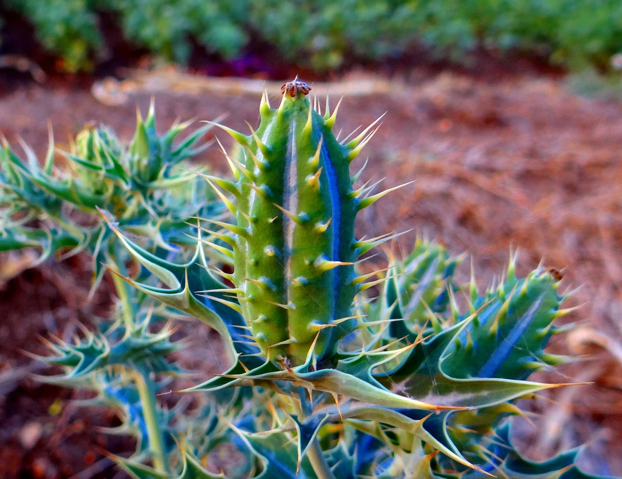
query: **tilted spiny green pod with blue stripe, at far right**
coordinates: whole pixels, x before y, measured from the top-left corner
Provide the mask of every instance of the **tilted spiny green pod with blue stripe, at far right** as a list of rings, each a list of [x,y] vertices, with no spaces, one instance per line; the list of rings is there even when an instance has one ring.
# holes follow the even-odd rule
[[[565,362],[565,356],[544,353],[552,323],[571,309],[560,309],[565,300],[557,292],[559,281],[549,271],[536,269],[525,279],[514,276],[514,259],[508,278],[496,291],[476,297],[473,320],[455,338],[443,361],[445,373],[456,378],[524,380],[533,371]]]

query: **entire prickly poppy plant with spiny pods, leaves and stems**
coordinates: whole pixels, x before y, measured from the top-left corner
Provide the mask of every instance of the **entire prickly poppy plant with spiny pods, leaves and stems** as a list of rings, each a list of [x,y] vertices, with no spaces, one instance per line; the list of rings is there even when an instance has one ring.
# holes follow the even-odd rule
[[[579,449],[531,462],[511,442],[516,400],[561,385],[528,380],[567,361],[545,352],[569,312],[560,277],[518,277],[513,257],[480,292],[455,279],[462,257],[423,239],[361,273],[361,255],[396,236],[355,237],[357,213],[395,189],[374,193],[350,175],[378,122],[338,141],[338,105],[321,114],[310,90],[285,83],[277,108],[264,93],[249,134],[216,124],[238,143],[225,152],[228,179],[176,169],[204,130],[174,144],[180,127],[157,136],[152,112],[129,146],[85,130],[60,178],[52,153],[40,170],[31,152],[24,164],[5,147],[3,249],[97,256],[105,243],[117,287],[98,330],[49,342],[40,359],[64,373],[44,380],[118,411],[117,432],[137,448],[116,461],[138,479],[595,478],[575,465]],[[96,197],[78,194],[87,184]],[[90,213],[97,241],[75,234],[63,202]],[[157,397],[185,373],[172,354],[186,347],[172,340],[179,316],[220,333],[229,361],[177,391],[202,393],[192,410]],[[225,446],[236,459],[216,468]]]

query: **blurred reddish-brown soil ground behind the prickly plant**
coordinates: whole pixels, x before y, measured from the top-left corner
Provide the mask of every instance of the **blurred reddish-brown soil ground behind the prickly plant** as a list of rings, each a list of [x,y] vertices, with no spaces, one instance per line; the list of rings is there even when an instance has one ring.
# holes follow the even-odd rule
[[[21,137],[40,154],[49,123],[58,146],[91,120],[129,140],[136,105],[146,112],[151,95],[162,129],[177,118],[221,114],[228,114],[223,123],[241,131],[244,121],[258,124],[261,80],[206,83],[173,70],[125,75],[133,79],[93,84],[63,77],[38,84],[27,75],[2,77],[0,131],[11,144]],[[353,169],[368,156],[363,178],[385,178],[385,187],[416,180],[364,210],[361,234],[414,228],[399,238],[399,247],[408,249],[418,234],[454,253],[466,251],[482,289],[515,248],[519,273],[542,260],[563,271],[567,291],[581,286],[569,305],[582,307],[562,320],[580,328],[556,338],[553,348],[592,358],[539,378],[593,384],[534,401],[534,425],[523,421],[518,439],[539,459],[587,442],[587,470],[622,475],[622,103],[580,98],[556,72],[517,65],[351,73],[336,80],[333,91],[346,93],[337,130],[348,134],[388,112]],[[267,86],[278,101],[272,83]],[[320,83],[311,86],[323,91]],[[198,160],[226,173],[215,147]],[[80,393],[35,381],[39,366],[21,352],[44,353],[38,335],[70,337],[78,320],[106,314],[105,285],[86,302],[88,268],[81,256],[48,261],[0,289],[0,478],[124,477],[100,448],[123,454],[131,441],[96,429],[116,424],[114,415],[85,412],[71,401]],[[469,274],[469,260],[461,274]],[[215,340],[203,326],[196,333]]]

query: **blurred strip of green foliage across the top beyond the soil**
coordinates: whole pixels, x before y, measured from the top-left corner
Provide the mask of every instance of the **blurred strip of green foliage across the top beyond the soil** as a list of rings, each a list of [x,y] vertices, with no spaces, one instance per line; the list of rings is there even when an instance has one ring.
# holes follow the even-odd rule
[[[571,69],[607,68],[622,45],[619,0],[0,0],[35,27],[66,70],[105,56],[98,14],[126,39],[185,63],[192,43],[234,58],[253,38],[317,71],[399,57],[420,44],[453,60],[482,45],[535,53]]]

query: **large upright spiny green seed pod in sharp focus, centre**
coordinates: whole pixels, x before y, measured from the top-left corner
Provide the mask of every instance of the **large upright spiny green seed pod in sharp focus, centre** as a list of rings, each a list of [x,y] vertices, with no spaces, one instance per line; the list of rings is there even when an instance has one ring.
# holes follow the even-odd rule
[[[337,108],[320,116],[309,90],[297,78],[285,83],[277,109],[264,93],[250,136],[221,127],[241,145],[244,164],[228,157],[235,183],[208,177],[236,198],[233,205],[220,193],[237,219],[221,226],[234,233],[233,282],[254,340],[270,360],[292,365],[305,362],[314,342],[315,359],[328,359],[350,332],[351,303],[365,286],[353,263],[376,244],[355,240],[356,213],[390,191],[353,191],[350,162],[373,124],[341,144],[331,131]]]

